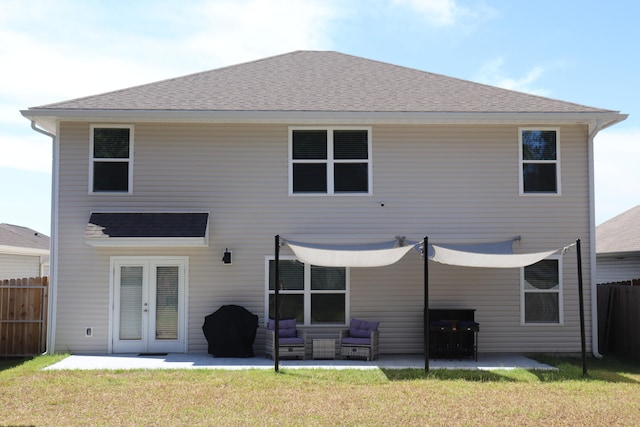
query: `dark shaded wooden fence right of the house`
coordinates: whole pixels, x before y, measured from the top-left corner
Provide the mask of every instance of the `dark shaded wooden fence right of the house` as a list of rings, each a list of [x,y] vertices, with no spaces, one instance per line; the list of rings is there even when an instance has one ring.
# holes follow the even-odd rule
[[[600,352],[640,358],[640,279],[598,285]]]

